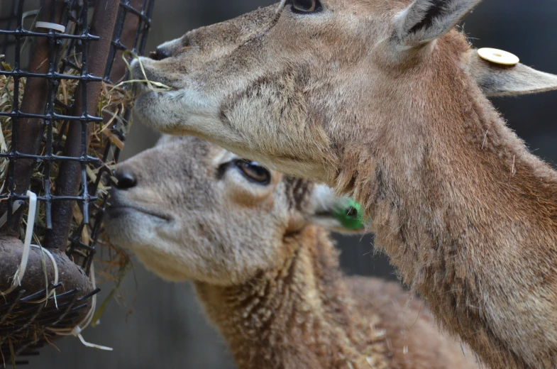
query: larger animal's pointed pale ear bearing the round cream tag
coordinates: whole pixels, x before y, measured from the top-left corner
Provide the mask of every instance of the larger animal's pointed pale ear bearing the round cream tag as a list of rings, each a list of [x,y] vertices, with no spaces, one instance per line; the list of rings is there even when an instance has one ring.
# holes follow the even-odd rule
[[[557,89],[557,75],[539,72],[524,64],[499,65],[483,60],[478,50],[468,53],[468,72],[487,97],[537,94]]]

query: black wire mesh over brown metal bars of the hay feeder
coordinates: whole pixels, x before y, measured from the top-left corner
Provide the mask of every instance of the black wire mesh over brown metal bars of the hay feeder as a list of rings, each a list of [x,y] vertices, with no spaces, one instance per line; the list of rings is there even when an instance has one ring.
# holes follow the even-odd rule
[[[114,75],[111,74],[111,71],[113,70],[117,58],[119,61],[121,51],[131,50],[132,53],[141,54],[145,48],[154,0],[136,0],[136,3],[138,2],[142,4],[133,4],[133,0],[122,0],[120,9],[118,10],[114,37],[104,72],[105,81],[111,84],[118,82],[112,80],[114,79]],[[42,165],[43,183],[41,187],[43,191],[38,194],[38,200],[45,206],[44,227],[46,230],[63,227],[57,224],[56,219],[53,219],[53,204],[56,202],[67,202],[69,200],[77,202],[79,208],[82,210],[83,221],[79,227],[72,230],[70,248],[67,249],[67,252],[75,261],[79,260],[79,265],[82,265],[84,270],[88,271],[92,255],[94,254],[96,237],[100,230],[101,218],[104,214],[104,206],[106,204],[105,198],[99,199],[97,196],[97,189],[101,182],[108,182],[107,177],[110,176],[111,168],[107,166],[106,163],[114,163],[118,160],[121,147],[114,144],[106,145],[105,148],[99,151],[99,155],[96,157],[89,155],[89,138],[87,136],[88,125],[91,123],[101,123],[103,117],[97,116],[97,111],[87,111],[87,104],[83,104],[82,109],[80,109],[77,114],[72,113],[75,106],[68,105],[65,101],[60,101],[57,92],[60,83],[70,79],[78,80],[82,82],[79,88],[82,89],[83,101],[87,101],[87,84],[101,81],[100,77],[89,75],[87,68],[87,50],[89,43],[99,39],[96,35],[89,33],[88,13],[89,7],[94,5],[94,1],[82,2],[73,0],[64,2],[67,8],[63,11],[61,24],[67,24],[68,26],[66,29],[72,29],[72,33],[59,33],[53,30],[48,31],[48,33],[28,31],[23,27],[22,20],[25,3],[26,1],[24,0],[13,1],[11,16],[0,19],[0,26],[7,27],[0,28],[0,50],[3,50],[2,53],[7,53],[9,48],[13,49],[13,70],[9,71],[6,70],[5,67],[0,67],[0,75],[13,79],[14,84],[13,110],[9,112],[0,112],[0,117],[11,118],[13,125],[11,150],[9,153],[0,153],[0,160],[9,160],[8,183],[7,186],[5,186],[4,192],[0,194],[0,201],[5,202],[7,199],[9,202],[8,207],[13,206],[13,203],[18,200],[28,201],[28,197],[24,194],[25,191],[16,188],[16,183],[14,181],[17,174],[15,172],[15,164],[18,160],[34,160],[35,163],[33,167]],[[52,1],[52,4],[55,4],[55,1]],[[55,13],[55,11],[52,11],[52,13]],[[60,22],[53,19],[53,23]],[[123,31],[129,32],[130,23],[135,26],[133,28],[133,38],[131,40],[123,40],[121,37],[122,33]],[[126,25],[128,26],[128,30],[126,30]],[[23,67],[22,49],[26,42],[26,38],[29,37],[48,39],[50,53],[48,55],[48,61],[45,61],[48,62],[49,65],[48,72],[38,74]],[[82,57],[78,56],[77,59],[79,60],[76,62],[76,55],[79,53],[82,54]],[[7,57],[11,56],[9,54],[4,55]],[[45,89],[46,106],[42,114],[24,112],[20,104],[18,104],[18,94],[21,93],[19,91],[21,79],[28,79],[29,77],[40,77],[48,80],[48,88]],[[118,79],[123,79],[122,77]],[[62,113],[60,113],[60,111],[62,111]],[[129,121],[130,114],[130,111],[123,113],[121,119],[118,119],[114,123],[114,126],[110,128],[114,136],[122,142],[128,131],[127,122]],[[42,121],[41,132],[38,138],[46,141],[46,147],[48,148],[46,152],[24,153],[20,150],[16,150],[16,148],[18,148],[18,137],[15,133],[18,124],[20,124],[23,119],[38,119]],[[60,154],[63,153],[64,149],[64,144],[60,142],[61,135],[57,140],[53,139],[53,122],[61,120],[64,121],[62,126],[64,129],[76,123],[82,126],[81,153],[76,157]],[[35,144],[35,146],[38,145]],[[53,180],[52,164],[57,163],[60,167],[63,162],[77,162],[81,165],[81,185],[79,194],[57,194],[53,192],[53,183],[51,183]],[[87,167],[89,167],[89,170],[92,168],[99,170],[99,172],[96,173],[96,180],[92,181],[91,176],[88,176]],[[26,182],[28,184],[34,180],[36,181],[37,178],[30,175]],[[57,181],[60,182],[60,178],[57,178]],[[25,189],[27,187],[28,186],[24,186]],[[16,221],[14,221],[13,218],[16,218]],[[13,227],[13,231],[17,231],[18,227],[21,226],[20,221],[21,214],[16,213],[12,215],[11,211],[8,211],[8,224]],[[82,240],[82,229],[86,225],[90,225],[92,228],[91,237],[89,240]],[[40,227],[40,225],[38,226]],[[43,246],[46,248],[51,247],[48,243],[48,238],[45,241]]]

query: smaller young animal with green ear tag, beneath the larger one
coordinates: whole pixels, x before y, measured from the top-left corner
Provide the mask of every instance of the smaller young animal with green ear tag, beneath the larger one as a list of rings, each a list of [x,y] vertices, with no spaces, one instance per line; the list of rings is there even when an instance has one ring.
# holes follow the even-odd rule
[[[476,368],[400,287],[350,279],[319,225],[347,209],[327,187],[197,138],[118,166],[106,227],[167,280],[192,280],[241,369]]]

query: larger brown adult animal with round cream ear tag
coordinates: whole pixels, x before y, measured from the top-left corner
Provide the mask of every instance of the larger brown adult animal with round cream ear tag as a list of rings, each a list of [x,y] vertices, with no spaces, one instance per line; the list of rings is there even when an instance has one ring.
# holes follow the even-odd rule
[[[557,367],[557,173],[486,95],[557,77],[480,60],[480,0],[289,0],[163,44],[136,111],[353,194],[377,245],[492,368]],[[140,63],[133,66],[140,73]]]

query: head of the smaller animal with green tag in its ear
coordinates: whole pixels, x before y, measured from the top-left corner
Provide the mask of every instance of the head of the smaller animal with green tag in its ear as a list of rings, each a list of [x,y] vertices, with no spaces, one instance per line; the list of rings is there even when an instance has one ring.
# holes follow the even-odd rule
[[[118,165],[116,177],[105,222],[111,241],[167,280],[234,285],[282,265],[292,252],[283,239],[309,224],[363,231],[341,221],[349,199],[329,187],[197,138],[162,138]]]

